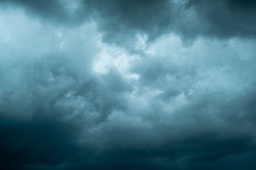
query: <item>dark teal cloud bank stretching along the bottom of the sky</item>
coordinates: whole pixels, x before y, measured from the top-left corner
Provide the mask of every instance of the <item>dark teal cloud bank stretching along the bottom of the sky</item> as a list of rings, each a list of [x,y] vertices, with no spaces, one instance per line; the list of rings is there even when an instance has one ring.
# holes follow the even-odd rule
[[[63,119],[73,111],[55,104],[48,109],[40,108],[33,120],[1,117],[1,167],[240,169],[241,165],[234,164],[240,162],[246,164],[247,169],[253,169],[255,118],[251,116],[255,113],[252,105],[255,96],[250,97],[253,91],[255,87],[231,101],[223,101],[222,95],[198,96],[193,98],[191,106],[174,117],[172,124],[161,120],[151,124],[151,128],[143,128],[143,123],[136,123],[136,119],[129,125],[129,117],[122,118],[122,113],[117,111],[112,115],[117,118],[100,124],[94,132],[84,133],[81,130],[90,131],[88,124],[84,124],[84,120],[80,122],[80,118]],[[235,105],[239,101],[244,102]],[[216,119],[224,124],[213,122],[208,115],[208,111],[216,107],[219,107]],[[238,114],[242,111],[247,113],[241,117]]]

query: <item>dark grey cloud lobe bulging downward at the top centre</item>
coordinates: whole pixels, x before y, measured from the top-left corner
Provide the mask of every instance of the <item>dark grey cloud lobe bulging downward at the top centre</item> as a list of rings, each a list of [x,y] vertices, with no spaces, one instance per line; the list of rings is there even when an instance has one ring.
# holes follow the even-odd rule
[[[136,34],[149,39],[169,32],[175,22],[171,1],[87,1],[107,42],[122,44]],[[132,38],[132,37],[130,37]]]

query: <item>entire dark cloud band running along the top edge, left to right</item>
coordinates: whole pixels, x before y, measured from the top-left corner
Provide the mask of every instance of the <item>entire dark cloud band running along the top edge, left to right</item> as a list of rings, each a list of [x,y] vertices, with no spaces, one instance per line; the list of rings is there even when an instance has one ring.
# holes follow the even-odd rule
[[[184,43],[210,36],[255,38],[254,1],[5,1],[65,26],[96,21],[105,42],[131,46],[136,35],[155,40],[166,33],[178,33]],[[73,11],[72,11],[73,10]]]

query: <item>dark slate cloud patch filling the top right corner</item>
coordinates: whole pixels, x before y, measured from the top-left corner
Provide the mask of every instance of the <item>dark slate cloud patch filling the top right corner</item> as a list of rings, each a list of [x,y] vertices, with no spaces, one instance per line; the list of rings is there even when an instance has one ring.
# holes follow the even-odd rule
[[[201,20],[204,36],[255,38],[253,1],[189,1]]]

